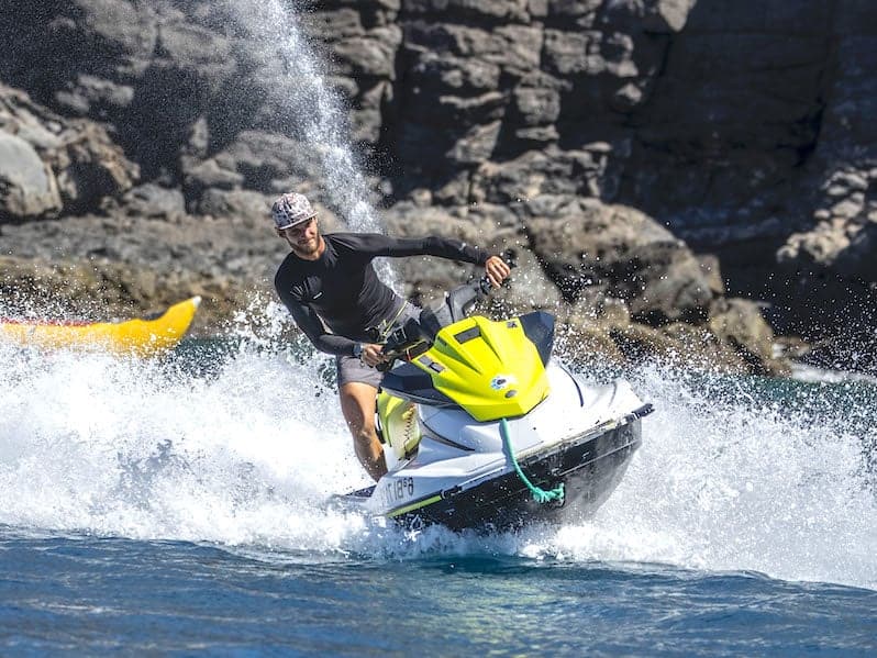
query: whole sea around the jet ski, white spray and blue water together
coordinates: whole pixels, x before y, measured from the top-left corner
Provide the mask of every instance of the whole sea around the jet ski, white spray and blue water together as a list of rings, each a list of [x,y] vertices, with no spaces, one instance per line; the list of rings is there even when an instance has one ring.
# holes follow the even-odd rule
[[[593,518],[404,531],[326,506],[366,483],[331,364],[264,331],[0,347],[0,654],[877,649],[874,384],[645,366],[656,412]]]

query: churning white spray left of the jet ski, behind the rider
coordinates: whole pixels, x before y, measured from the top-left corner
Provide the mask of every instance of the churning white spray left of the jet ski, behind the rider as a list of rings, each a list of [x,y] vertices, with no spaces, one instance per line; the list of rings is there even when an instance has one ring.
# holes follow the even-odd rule
[[[334,531],[313,503],[357,481],[335,395],[284,355],[244,348],[210,378],[71,353],[0,363],[0,524],[292,547],[298,527],[319,550]]]

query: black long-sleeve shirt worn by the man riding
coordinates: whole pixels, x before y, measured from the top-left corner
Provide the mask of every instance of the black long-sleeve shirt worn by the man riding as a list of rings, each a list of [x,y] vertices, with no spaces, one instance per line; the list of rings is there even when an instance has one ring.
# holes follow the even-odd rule
[[[342,356],[352,356],[356,343],[371,342],[366,330],[392,320],[401,303],[378,279],[374,258],[438,256],[477,265],[489,258],[484,249],[438,236],[330,233],[323,239],[325,250],[317,260],[290,253],[277,269],[274,286],[314,346]]]

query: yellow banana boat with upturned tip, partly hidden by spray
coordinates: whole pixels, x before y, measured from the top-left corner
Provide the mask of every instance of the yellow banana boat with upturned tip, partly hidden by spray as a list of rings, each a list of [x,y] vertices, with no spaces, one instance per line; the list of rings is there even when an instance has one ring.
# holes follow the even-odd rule
[[[154,317],[120,322],[52,322],[0,319],[0,339],[47,349],[103,349],[119,355],[154,356],[182,339],[201,303],[192,297]]]

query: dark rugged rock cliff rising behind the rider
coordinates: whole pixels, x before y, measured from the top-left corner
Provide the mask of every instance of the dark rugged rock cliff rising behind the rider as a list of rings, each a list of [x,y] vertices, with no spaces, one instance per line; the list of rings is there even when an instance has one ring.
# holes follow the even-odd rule
[[[4,252],[174,271],[233,303],[282,254],[273,196],[312,196],[329,225],[352,212],[314,136],[325,88],[390,232],[510,249],[526,285],[506,302],[559,304],[606,353],[693,342],[770,370],[765,305],[811,341],[873,337],[877,5],[285,4],[18,8],[0,24]],[[288,47],[299,27],[315,64]],[[429,297],[460,272],[402,275]]]

